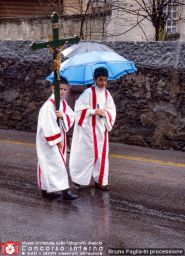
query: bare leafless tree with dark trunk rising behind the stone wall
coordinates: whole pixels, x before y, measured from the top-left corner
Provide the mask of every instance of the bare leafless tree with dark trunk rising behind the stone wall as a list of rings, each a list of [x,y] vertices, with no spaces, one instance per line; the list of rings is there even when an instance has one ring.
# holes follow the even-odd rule
[[[183,0],[182,0],[183,1]],[[142,32],[146,33],[142,27],[143,21],[147,20],[151,22],[155,30],[155,41],[164,41],[167,37],[166,24],[167,21],[177,22],[184,19],[182,17],[182,10],[185,7],[185,3],[181,0],[113,0],[112,10],[122,10],[122,18],[124,15],[129,14],[135,16],[135,23],[130,28],[122,33],[112,34],[112,36],[125,34],[131,31],[133,28],[139,26]],[[172,17],[172,8],[178,8],[178,17]]]

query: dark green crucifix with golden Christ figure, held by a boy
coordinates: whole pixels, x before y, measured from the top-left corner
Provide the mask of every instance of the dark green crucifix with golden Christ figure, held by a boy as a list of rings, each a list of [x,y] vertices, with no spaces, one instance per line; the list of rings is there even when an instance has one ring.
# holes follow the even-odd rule
[[[53,53],[53,71],[54,71],[54,94],[55,94],[55,107],[59,110],[60,107],[60,64],[61,64],[61,49],[66,45],[77,44],[80,41],[78,36],[62,38],[59,36],[59,15],[53,12],[51,15],[53,35],[51,40],[47,42],[35,42],[30,45],[31,50],[42,48],[49,48]]]

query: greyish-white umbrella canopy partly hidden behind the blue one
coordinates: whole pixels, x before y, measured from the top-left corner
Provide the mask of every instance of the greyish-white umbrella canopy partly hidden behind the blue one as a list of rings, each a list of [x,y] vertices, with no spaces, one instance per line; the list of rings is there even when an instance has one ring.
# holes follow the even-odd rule
[[[78,44],[74,44],[65,50],[62,51],[62,54],[65,58],[74,57],[77,54],[82,54],[86,52],[92,51],[106,51],[106,52],[114,52],[110,47],[99,44],[96,42],[80,42]]]

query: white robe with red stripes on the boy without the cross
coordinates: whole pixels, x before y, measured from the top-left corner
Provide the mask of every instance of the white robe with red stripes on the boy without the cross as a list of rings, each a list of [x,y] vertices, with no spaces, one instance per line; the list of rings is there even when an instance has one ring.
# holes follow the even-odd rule
[[[95,109],[104,109],[106,116],[94,115]],[[95,182],[105,186],[109,175],[109,139],[116,118],[116,107],[107,89],[92,86],[75,103],[75,127],[70,154],[72,181],[88,185]]]

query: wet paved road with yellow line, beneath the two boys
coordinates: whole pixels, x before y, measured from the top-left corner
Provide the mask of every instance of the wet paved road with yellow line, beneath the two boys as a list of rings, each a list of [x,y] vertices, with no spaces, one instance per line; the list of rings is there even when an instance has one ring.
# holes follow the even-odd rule
[[[0,144],[0,240],[20,241],[20,255],[64,255],[62,248],[56,252],[57,242],[65,255],[82,255],[83,246],[91,253],[84,255],[109,255],[108,248],[185,249],[183,152],[113,143],[111,191],[91,184],[68,203],[43,199],[37,189],[34,133],[0,130]],[[51,244],[45,254],[33,249],[38,242],[55,243],[55,251]]]

